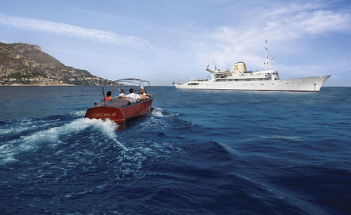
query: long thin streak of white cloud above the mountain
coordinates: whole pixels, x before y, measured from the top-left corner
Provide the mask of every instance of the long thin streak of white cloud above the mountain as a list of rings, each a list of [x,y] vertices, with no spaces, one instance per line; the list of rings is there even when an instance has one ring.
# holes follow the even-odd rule
[[[60,22],[10,17],[0,14],[0,25],[15,27],[32,32],[46,32],[49,34],[70,36],[77,39],[88,39],[91,41],[109,43],[117,46],[154,50],[154,45],[152,45],[152,43],[138,36],[125,36],[112,32],[100,31],[97,29],[86,29]]]

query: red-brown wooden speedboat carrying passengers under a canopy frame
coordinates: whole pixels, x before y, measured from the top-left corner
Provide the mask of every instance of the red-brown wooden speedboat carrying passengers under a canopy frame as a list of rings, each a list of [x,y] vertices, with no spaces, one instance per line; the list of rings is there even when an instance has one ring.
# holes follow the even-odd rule
[[[135,78],[127,78],[117,80],[114,83],[133,83],[136,85],[128,88],[135,88],[135,90],[143,88],[143,84],[147,83],[149,85],[148,92],[150,92],[150,83],[148,81]],[[102,120],[106,120],[107,118],[109,118],[115,123],[124,123],[126,120],[143,116],[147,113],[150,113],[151,111],[151,105],[152,101],[154,100],[154,95],[149,94],[149,98],[143,100],[113,97],[109,101],[105,101],[105,92],[103,91],[104,90],[102,87],[104,99],[102,100],[102,102],[95,103],[94,106],[89,107],[86,111],[85,118],[97,118]]]

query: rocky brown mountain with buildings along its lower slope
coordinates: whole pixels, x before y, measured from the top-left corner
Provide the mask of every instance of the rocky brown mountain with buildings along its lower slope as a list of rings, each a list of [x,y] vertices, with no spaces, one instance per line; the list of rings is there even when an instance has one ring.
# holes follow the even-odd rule
[[[27,43],[0,43],[0,85],[110,85],[86,70],[67,67]]]

